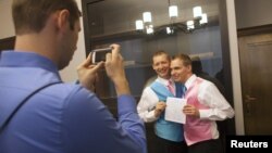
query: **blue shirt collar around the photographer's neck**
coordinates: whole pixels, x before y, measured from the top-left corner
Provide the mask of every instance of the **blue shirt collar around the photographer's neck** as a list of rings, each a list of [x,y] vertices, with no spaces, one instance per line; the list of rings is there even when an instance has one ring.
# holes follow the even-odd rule
[[[0,66],[40,67],[59,75],[59,71],[52,61],[32,52],[2,51],[0,55]]]

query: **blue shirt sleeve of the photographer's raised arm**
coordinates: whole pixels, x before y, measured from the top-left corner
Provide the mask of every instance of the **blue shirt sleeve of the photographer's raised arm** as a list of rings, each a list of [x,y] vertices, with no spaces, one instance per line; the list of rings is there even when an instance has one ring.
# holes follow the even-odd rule
[[[67,153],[146,153],[144,123],[132,95],[118,98],[119,122],[101,101],[86,89],[67,98],[62,136]]]

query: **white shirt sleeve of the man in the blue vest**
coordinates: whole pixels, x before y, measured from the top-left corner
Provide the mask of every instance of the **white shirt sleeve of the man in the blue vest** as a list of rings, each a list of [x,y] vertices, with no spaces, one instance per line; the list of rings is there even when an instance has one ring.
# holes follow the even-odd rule
[[[151,123],[158,119],[158,117],[154,116],[154,106],[158,102],[159,99],[152,89],[150,87],[145,88],[137,105],[139,117],[145,123]]]

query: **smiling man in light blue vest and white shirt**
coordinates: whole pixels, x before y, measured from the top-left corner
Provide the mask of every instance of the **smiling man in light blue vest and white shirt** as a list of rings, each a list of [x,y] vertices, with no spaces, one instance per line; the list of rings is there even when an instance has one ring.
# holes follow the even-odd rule
[[[140,118],[146,123],[156,122],[154,132],[162,146],[161,153],[185,153],[183,125],[164,119],[168,97],[181,97],[183,85],[175,84],[170,75],[171,59],[164,51],[157,51],[152,56],[152,67],[158,77],[143,91],[137,106]]]

